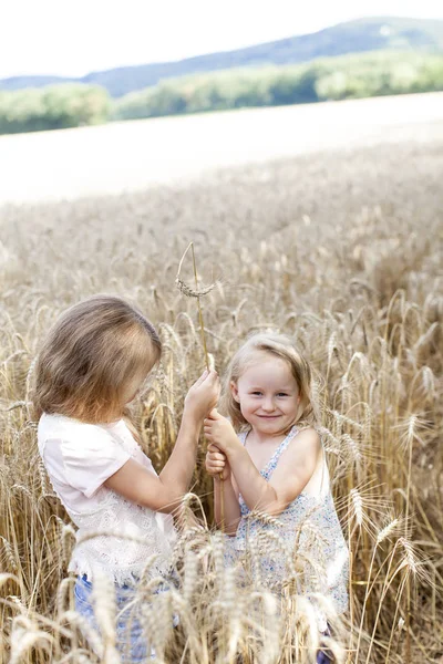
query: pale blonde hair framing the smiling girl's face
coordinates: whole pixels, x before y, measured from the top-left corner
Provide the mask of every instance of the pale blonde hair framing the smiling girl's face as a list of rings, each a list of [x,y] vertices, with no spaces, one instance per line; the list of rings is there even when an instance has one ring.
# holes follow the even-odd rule
[[[257,361],[257,352],[265,352],[288,363],[296,380],[300,404],[291,426],[296,423],[312,426],[318,422],[318,408],[312,398],[312,370],[303,355],[286,334],[253,334],[236,352],[224,380],[222,409],[230,417],[234,428],[248,425],[241,414],[240,404],[234,398],[231,382],[237,383],[244,372]]]

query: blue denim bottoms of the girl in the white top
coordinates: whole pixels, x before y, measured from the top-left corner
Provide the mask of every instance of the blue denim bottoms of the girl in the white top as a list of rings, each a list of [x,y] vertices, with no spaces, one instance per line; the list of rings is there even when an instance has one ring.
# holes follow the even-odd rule
[[[94,614],[91,593],[92,583],[87,581],[87,577],[78,577],[74,587],[75,611],[87,621],[89,626],[99,635],[100,630]],[[122,664],[135,664],[155,660],[155,650],[147,643],[142,625],[134,615],[133,608],[130,606],[133,600],[133,588],[128,585],[115,585],[117,611],[116,647]],[[85,636],[87,637],[86,634]]]

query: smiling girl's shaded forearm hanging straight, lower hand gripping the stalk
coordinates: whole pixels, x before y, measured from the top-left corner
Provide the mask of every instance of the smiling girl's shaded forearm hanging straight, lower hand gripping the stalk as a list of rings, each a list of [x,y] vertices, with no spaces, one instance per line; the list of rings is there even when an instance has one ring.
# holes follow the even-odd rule
[[[235,535],[240,520],[238,495],[231,481],[229,463],[218,447],[209,445],[206,454],[206,470],[214,478],[214,516],[217,526],[224,526],[226,535]],[[222,475],[222,478],[220,478]],[[223,508],[222,508],[223,501]],[[223,523],[224,516],[224,523]]]

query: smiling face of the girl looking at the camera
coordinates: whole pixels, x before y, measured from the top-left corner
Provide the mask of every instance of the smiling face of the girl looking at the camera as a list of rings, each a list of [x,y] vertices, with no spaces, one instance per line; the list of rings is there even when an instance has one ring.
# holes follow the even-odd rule
[[[293,423],[300,395],[285,360],[257,352],[257,362],[248,366],[230,388],[243,416],[256,430],[276,435]]]

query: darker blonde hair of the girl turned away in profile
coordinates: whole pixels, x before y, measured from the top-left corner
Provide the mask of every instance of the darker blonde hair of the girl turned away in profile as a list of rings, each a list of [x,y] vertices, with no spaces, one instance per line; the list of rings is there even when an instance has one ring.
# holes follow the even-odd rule
[[[93,295],[68,309],[41,346],[34,374],[35,418],[59,413],[97,424],[123,415],[124,387],[159,360],[155,328],[132,304]]]

